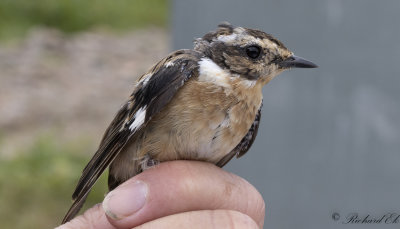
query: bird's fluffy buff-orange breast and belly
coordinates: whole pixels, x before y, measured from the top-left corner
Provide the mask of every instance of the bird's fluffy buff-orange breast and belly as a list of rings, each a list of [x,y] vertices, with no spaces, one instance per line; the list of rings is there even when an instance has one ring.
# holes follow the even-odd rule
[[[261,90],[226,90],[199,78],[186,82],[144,130],[139,155],[217,163],[248,132],[262,100]]]

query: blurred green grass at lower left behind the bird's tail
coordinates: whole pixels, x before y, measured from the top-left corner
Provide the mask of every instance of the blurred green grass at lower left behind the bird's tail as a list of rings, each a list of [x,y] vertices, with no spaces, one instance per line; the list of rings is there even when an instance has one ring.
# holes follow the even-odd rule
[[[60,223],[82,165],[88,161],[87,142],[59,142],[38,136],[12,159],[0,161],[0,221],[2,228],[50,228]],[[103,175],[86,206],[106,193]]]

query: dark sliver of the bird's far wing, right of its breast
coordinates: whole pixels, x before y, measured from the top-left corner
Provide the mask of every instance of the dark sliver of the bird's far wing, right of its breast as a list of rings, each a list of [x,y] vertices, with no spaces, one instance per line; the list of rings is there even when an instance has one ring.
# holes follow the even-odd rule
[[[235,155],[237,158],[243,156],[247,151],[250,149],[251,145],[253,144],[254,140],[256,139],[258,126],[260,125],[261,119],[261,108],[258,109],[256,118],[254,119],[253,124],[251,125],[247,134],[242,138],[239,144],[227,155],[225,155],[218,163],[216,164],[219,167],[223,167],[228,163]]]

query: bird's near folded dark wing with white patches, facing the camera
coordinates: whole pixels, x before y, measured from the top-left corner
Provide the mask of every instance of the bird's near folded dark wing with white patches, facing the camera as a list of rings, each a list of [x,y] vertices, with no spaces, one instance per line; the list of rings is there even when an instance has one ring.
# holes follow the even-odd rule
[[[165,107],[189,78],[198,74],[200,58],[201,54],[196,51],[178,50],[139,79],[129,101],[118,111],[98,150],[84,168],[72,195],[74,203],[63,223],[79,212],[90,189],[129,139]]]

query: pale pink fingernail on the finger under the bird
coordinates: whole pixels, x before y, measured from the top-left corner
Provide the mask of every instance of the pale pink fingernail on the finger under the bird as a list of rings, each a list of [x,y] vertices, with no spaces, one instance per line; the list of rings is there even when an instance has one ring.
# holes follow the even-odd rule
[[[142,181],[122,185],[107,194],[103,201],[103,209],[114,220],[126,218],[144,206],[147,191],[148,187]]]

